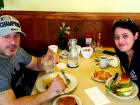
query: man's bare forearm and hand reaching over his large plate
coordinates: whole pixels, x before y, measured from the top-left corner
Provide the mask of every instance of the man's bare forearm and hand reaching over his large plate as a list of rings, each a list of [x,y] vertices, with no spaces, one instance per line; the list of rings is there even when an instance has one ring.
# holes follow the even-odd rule
[[[0,105],[41,105],[45,101],[59,95],[65,88],[60,77],[54,78],[51,86],[44,92],[32,96],[16,98],[12,89],[0,92]]]

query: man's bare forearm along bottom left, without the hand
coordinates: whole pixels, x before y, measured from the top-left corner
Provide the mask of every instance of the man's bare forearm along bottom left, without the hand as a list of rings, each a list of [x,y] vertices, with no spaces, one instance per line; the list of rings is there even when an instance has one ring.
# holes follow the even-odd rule
[[[12,89],[0,93],[0,105],[40,105],[51,99],[56,93],[45,91],[38,95],[25,96],[16,99]]]

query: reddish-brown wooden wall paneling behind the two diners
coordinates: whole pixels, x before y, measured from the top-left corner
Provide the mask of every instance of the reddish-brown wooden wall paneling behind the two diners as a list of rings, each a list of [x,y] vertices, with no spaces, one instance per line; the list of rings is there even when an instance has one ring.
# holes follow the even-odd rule
[[[12,15],[18,18],[22,30],[27,34],[21,38],[21,45],[29,50],[41,52],[45,52],[49,44],[58,43],[59,36],[56,31],[62,22],[71,27],[68,39],[80,38],[81,34],[101,32],[101,43],[105,47],[113,46],[111,32],[113,20],[130,17],[140,27],[140,13],[0,11],[0,15]]]

